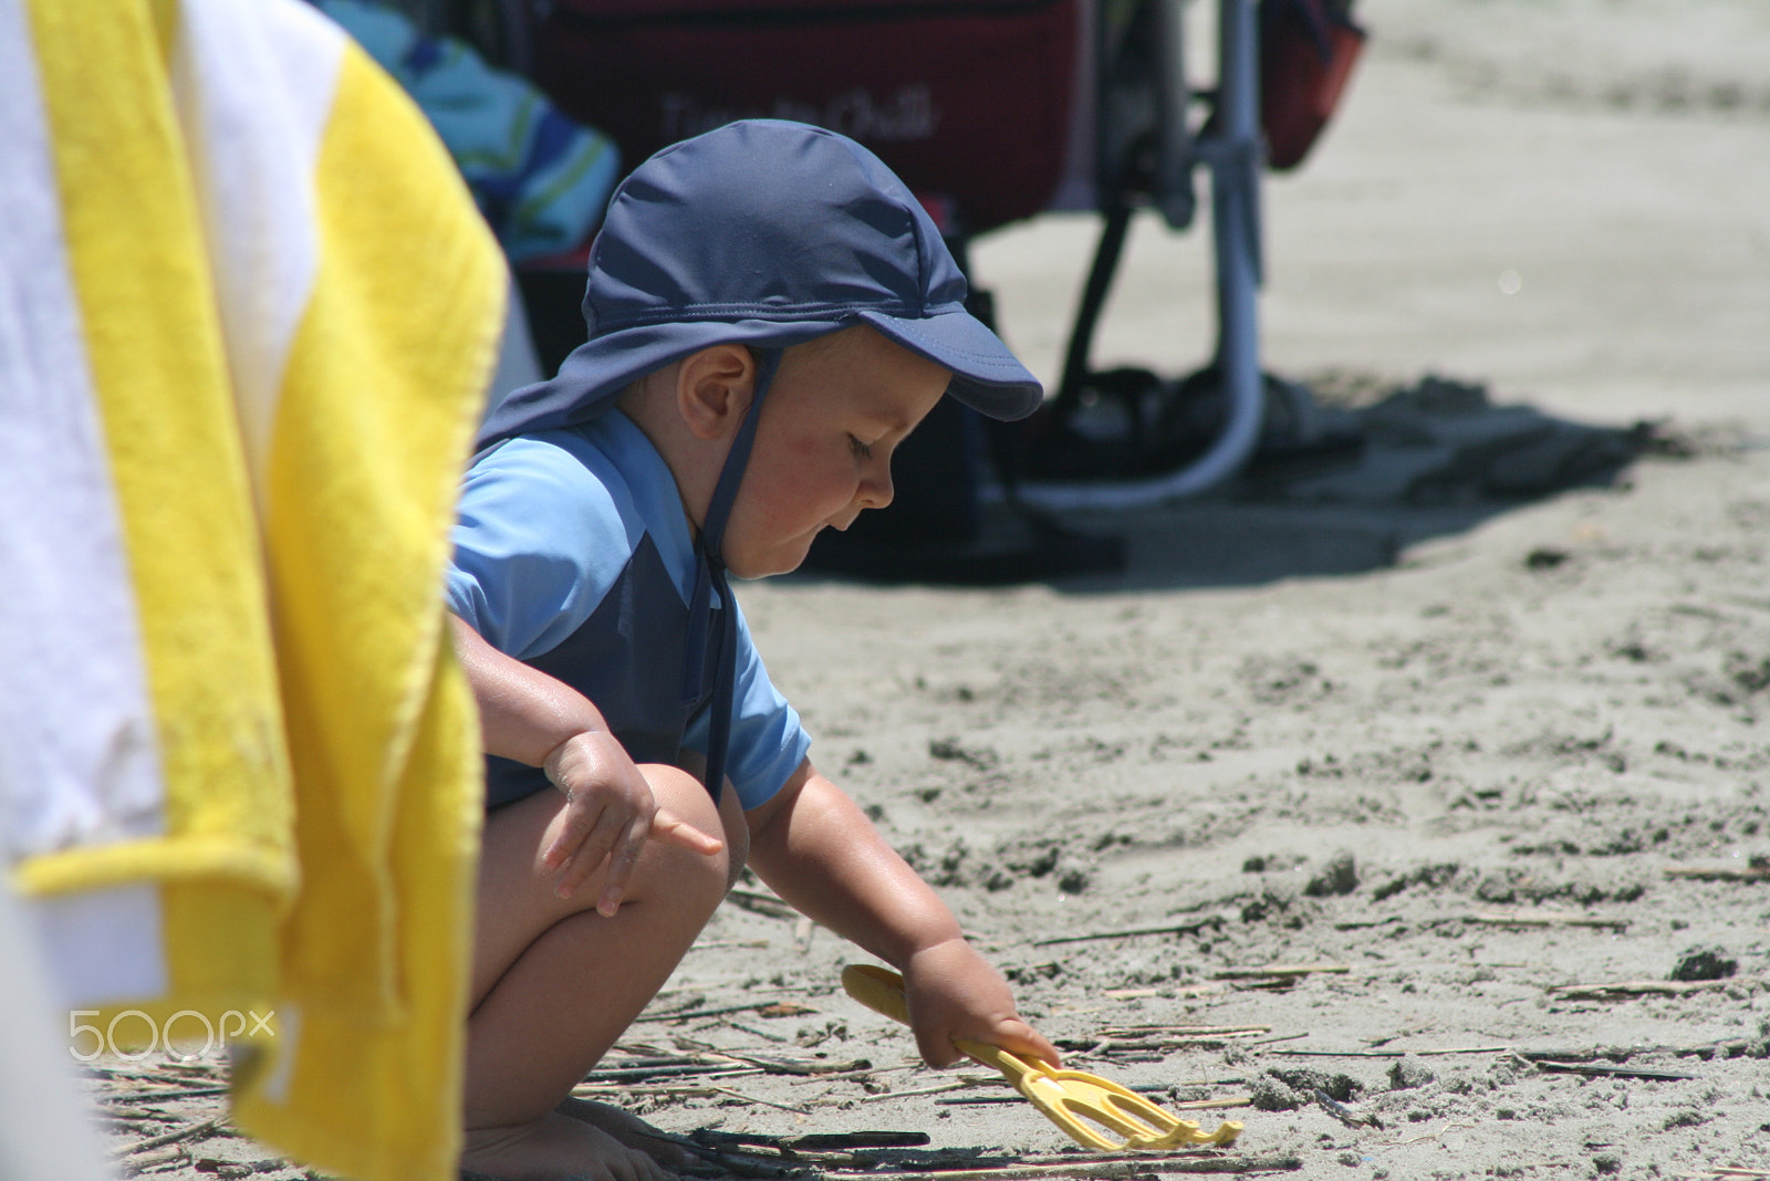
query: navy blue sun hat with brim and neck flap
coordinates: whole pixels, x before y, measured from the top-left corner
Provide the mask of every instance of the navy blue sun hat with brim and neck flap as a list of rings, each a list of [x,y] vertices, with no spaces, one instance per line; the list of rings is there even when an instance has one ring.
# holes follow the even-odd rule
[[[614,191],[589,253],[589,339],[552,380],[512,391],[480,446],[593,419],[632,380],[710,345],[786,348],[857,324],[950,370],[965,405],[1032,414],[1039,380],[965,295],[940,230],[878,156],[807,124],[727,124]]]

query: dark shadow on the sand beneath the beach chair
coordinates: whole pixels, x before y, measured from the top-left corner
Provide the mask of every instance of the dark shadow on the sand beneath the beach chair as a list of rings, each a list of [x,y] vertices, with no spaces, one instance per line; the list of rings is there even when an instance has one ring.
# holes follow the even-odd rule
[[[825,532],[795,578],[1087,594],[1356,575],[1558,491],[1623,488],[1643,456],[1692,453],[1662,424],[1572,423],[1443,377],[1384,387],[1328,375],[1294,389],[1304,401],[1281,423],[1269,414],[1253,460],[1205,497],[1112,513],[997,499],[975,536],[947,543]],[[915,477],[899,472],[899,486]]]

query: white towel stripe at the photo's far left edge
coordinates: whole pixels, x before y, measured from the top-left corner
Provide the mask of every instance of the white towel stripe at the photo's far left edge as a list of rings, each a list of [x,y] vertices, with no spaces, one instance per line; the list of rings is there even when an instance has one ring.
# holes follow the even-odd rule
[[[28,14],[0,0],[0,865],[161,831],[110,456]]]

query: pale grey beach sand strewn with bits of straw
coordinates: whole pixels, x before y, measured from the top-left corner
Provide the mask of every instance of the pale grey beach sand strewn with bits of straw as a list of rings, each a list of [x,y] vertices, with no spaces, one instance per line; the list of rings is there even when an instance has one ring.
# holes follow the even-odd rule
[[[1074,522],[1129,537],[1119,578],[795,578],[743,587],[745,610],[820,766],[1073,1064],[1163,1103],[1253,1098],[1197,1112],[1246,1124],[1227,1158],[1306,1177],[1770,1176],[1770,880],[1749,880],[1770,854],[1770,9],[1361,12],[1374,41],[1342,117],[1267,187],[1267,368],[1347,387],[1444,373],[1494,405],[1439,424],[1531,407],[1655,419],[1676,446],[1533,499],[1485,495],[1481,472],[1384,483],[1375,461],[1248,483]],[[1044,375],[1090,237],[1044,219],[977,255]],[[1140,226],[1103,359],[1195,364],[1205,262],[1202,235]],[[1414,454],[1389,442],[1377,458]],[[646,1020],[632,1043],[873,1070],[740,1075],[719,1082],[736,1094],[641,1110],[680,1133],[931,1137],[874,1153],[897,1163],[1064,1149],[1025,1103],[956,1101],[1000,1087],[926,1093],[954,1077],[913,1068],[906,1032],[841,994],[857,958],[727,905],[655,1011],[809,1011]],[[1274,964],[1328,971],[1234,974]],[[1680,965],[1719,978],[1673,983]],[[1108,1032],[1135,1025],[1267,1032]],[[269,1158],[237,1139],[191,1153]]]

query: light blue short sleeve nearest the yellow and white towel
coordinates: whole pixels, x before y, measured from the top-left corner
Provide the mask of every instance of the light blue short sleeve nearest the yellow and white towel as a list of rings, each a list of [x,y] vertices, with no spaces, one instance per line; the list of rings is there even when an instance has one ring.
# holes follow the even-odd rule
[[[487,644],[533,659],[577,631],[639,543],[600,456],[513,438],[462,483],[446,596]]]

